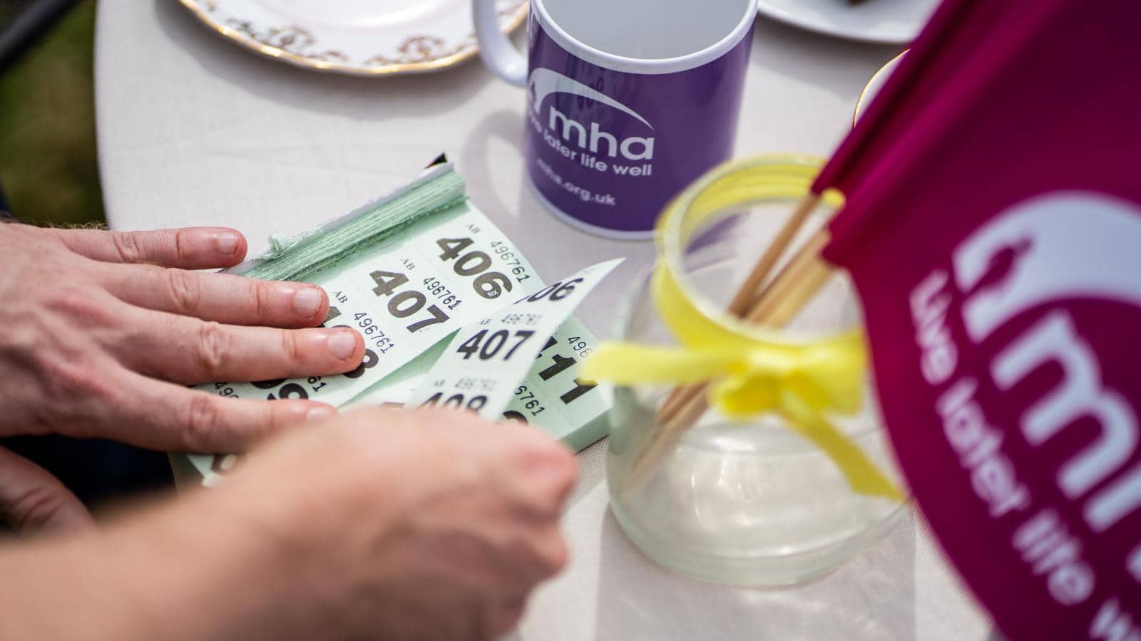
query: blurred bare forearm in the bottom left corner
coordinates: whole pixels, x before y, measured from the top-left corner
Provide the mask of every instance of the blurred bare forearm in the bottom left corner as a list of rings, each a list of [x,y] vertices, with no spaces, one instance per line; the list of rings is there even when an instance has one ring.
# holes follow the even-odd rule
[[[281,547],[227,503],[189,497],[106,532],[0,547],[0,639],[297,638],[301,612],[273,607],[298,589]]]

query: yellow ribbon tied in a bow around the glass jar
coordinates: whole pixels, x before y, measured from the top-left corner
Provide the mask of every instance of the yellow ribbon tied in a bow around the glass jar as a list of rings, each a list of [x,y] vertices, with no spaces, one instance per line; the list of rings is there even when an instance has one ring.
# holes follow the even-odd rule
[[[746,325],[691,294],[682,277],[690,236],[733,208],[759,202],[795,203],[811,185],[819,161],[771,157],[714,169],[666,206],[657,225],[655,306],[679,347],[604,343],[583,364],[585,379],[621,386],[711,381],[710,405],[731,417],[775,412],[827,454],[855,492],[903,501],[884,476],[826,414],[858,412],[865,393],[867,354],[859,331],[815,341]],[[842,197],[828,193],[825,204]]]

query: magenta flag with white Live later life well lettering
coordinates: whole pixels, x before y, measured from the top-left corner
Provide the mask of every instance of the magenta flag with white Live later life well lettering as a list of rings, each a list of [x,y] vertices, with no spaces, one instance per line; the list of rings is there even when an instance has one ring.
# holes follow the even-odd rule
[[[925,89],[880,109],[905,122],[825,181],[848,196],[825,257],[916,500],[1003,632],[1135,641],[1141,3],[1002,5],[941,38],[957,65],[917,43]]]

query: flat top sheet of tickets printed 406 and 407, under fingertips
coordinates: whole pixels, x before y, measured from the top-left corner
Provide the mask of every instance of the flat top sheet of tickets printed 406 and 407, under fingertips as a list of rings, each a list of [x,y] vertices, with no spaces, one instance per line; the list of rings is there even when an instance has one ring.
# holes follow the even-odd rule
[[[209,383],[220,396],[319,400],[339,407],[463,325],[541,286],[508,237],[469,204],[420,220],[383,245],[317,274],[330,297],[325,325],[364,335],[361,366],[347,374]]]

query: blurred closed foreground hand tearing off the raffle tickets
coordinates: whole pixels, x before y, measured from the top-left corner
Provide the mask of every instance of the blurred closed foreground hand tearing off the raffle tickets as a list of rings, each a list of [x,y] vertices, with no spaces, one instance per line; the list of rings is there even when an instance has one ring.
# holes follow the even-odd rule
[[[566,562],[575,470],[534,428],[458,412],[354,412],[291,433],[192,503],[203,553],[240,559],[218,571],[232,590],[204,584],[196,610],[236,617],[243,639],[494,638]]]

